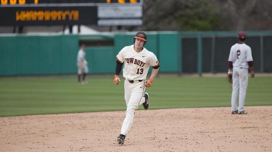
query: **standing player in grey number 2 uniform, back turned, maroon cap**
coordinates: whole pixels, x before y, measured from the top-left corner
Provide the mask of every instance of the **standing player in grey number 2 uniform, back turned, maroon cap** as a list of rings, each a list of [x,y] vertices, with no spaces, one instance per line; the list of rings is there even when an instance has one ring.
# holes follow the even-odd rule
[[[245,44],[246,33],[239,32],[237,37],[238,43],[231,47],[228,59],[228,75],[232,75],[231,113],[247,114],[244,105],[248,87],[248,68],[252,78],[255,73],[251,48]],[[238,96],[239,105],[237,105]]]

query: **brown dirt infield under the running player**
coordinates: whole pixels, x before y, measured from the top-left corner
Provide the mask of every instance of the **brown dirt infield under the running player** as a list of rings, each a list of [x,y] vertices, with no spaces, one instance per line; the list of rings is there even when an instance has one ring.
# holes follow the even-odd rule
[[[272,106],[136,111],[125,144],[125,111],[0,118],[0,151],[272,151]]]

